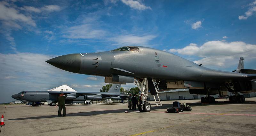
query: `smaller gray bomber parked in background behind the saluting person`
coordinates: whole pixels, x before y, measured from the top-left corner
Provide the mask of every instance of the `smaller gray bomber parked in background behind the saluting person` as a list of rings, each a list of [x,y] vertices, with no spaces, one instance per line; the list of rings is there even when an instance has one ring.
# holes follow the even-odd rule
[[[12,98],[22,102],[47,102],[50,106],[54,106],[57,103],[58,95],[65,93],[68,95],[65,98],[65,103],[84,103],[89,100],[88,104],[92,104],[92,100],[126,100],[127,94],[120,92],[120,89],[120,84],[113,84],[108,92],[22,91],[12,95]]]

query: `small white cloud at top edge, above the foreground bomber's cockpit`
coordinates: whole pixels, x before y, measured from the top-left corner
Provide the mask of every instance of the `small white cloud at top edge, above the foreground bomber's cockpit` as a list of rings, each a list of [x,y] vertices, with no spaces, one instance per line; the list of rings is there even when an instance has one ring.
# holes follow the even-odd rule
[[[124,4],[130,6],[132,9],[136,9],[136,10],[147,10],[151,8],[149,6],[145,6],[144,4],[140,3],[139,1],[136,0],[121,0]]]

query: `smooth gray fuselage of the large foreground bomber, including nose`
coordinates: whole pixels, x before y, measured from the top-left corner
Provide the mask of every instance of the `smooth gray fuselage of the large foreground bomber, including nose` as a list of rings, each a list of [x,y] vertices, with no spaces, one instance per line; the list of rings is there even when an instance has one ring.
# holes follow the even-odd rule
[[[179,80],[231,82],[246,78],[246,74],[205,68],[172,53],[153,48],[141,46],[122,48],[108,52],[68,54],[46,62],[66,71],[105,77],[116,74],[134,78],[151,77],[168,82]]]

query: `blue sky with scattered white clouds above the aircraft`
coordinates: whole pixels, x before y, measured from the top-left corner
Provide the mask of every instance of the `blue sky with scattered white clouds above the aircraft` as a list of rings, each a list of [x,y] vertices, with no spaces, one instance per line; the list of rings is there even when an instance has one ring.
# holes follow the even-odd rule
[[[0,103],[23,90],[67,84],[99,91],[104,77],[45,62],[124,45],[148,46],[232,71],[256,69],[256,1],[0,1]],[[134,84],[124,85],[135,87]]]

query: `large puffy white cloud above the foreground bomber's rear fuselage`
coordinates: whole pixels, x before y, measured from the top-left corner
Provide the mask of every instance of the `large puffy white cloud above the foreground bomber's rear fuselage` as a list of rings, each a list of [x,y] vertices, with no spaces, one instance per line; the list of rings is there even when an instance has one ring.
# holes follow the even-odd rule
[[[201,57],[202,59],[194,61],[197,64],[228,67],[239,57],[256,57],[256,45],[240,41],[209,41],[202,46],[189,44],[181,49],[170,49],[169,52]]]

